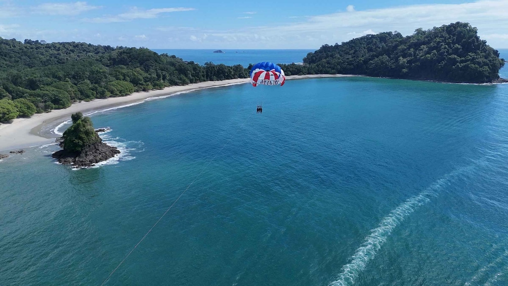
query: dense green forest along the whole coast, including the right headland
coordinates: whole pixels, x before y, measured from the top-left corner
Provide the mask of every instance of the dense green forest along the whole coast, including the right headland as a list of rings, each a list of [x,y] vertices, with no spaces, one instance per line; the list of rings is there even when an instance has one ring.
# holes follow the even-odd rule
[[[324,45],[303,65],[280,65],[285,75],[357,74],[402,79],[485,83],[499,79],[499,53],[468,23],[379,33]],[[248,78],[250,67],[204,66],[147,48],[86,43],[23,43],[0,38],[0,122],[73,102],[121,97],[210,80]]]

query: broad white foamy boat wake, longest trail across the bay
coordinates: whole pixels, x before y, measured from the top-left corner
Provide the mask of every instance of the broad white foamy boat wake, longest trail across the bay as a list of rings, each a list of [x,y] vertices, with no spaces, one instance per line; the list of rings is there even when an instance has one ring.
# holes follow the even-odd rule
[[[370,231],[370,234],[365,238],[360,248],[358,248],[351,257],[351,262],[342,267],[342,272],[338,275],[338,278],[329,285],[352,286],[358,275],[365,269],[367,262],[374,258],[377,251],[383,246],[392,231],[419,206],[428,203],[431,197],[437,196],[437,191],[448,184],[452,176],[458,174],[462,170],[463,169],[459,169],[444,176],[419,195],[407,199],[392,210],[383,218],[377,228]]]

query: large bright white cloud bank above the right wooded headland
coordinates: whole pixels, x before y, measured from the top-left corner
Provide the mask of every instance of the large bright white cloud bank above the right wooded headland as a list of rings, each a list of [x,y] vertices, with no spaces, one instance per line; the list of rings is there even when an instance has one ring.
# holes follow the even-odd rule
[[[402,34],[409,35],[420,27],[429,29],[456,21],[469,22],[472,26],[478,27],[480,37],[504,34],[503,27],[508,27],[508,1],[480,0],[465,4],[412,5],[355,13],[340,12],[312,16],[293,24],[249,29],[256,29],[260,34],[276,38],[279,43],[291,45],[293,42],[297,43],[298,47],[305,48],[319,47],[327,42],[340,43],[350,40],[352,37],[347,33],[351,33],[352,29],[363,30],[366,33],[371,27],[375,27],[378,31],[398,30]],[[246,30],[238,32],[245,36],[249,34]],[[308,36],[309,41],[299,41],[298,36]],[[494,43],[497,46],[508,46],[506,41],[504,44],[501,41],[492,44]]]

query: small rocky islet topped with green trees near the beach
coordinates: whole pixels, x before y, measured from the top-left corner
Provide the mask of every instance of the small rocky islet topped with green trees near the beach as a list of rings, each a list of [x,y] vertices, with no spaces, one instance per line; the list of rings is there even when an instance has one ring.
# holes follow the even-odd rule
[[[52,154],[58,163],[90,167],[120,153],[116,147],[102,142],[89,117],[83,117],[81,112],[74,113],[72,122],[69,129],[58,139],[59,146],[63,149]]]

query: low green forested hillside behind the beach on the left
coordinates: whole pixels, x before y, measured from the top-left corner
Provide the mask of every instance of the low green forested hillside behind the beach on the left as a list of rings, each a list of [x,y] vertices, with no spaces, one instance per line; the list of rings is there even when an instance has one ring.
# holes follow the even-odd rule
[[[0,38],[0,122],[67,108],[77,101],[247,77],[241,65],[200,66],[146,48]]]

